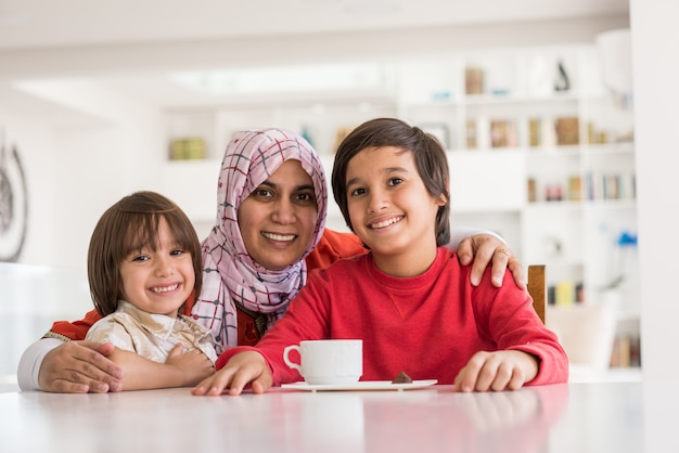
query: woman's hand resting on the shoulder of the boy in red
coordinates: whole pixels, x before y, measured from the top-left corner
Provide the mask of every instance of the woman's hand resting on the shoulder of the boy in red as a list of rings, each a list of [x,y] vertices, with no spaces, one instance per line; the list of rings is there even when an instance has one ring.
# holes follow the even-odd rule
[[[458,246],[458,258],[463,266],[472,264],[470,279],[472,285],[478,286],[481,277],[488,264],[492,264],[492,285],[502,286],[504,271],[509,268],[514,277],[516,286],[526,288],[526,274],[521,261],[516,259],[507,244],[492,234],[474,234],[460,242]]]

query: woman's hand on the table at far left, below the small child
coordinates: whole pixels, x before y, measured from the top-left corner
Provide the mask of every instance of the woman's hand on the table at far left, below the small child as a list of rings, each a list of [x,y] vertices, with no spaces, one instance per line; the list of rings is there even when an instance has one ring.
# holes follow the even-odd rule
[[[110,342],[66,341],[44,355],[38,384],[43,391],[105,393],[123,389],[123,370],[107,357]]]

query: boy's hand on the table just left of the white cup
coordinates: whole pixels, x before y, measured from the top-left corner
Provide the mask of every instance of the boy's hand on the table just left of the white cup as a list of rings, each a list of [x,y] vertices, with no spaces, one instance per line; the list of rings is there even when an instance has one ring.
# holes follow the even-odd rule
[[[259,352],[246,351],[233,355],[223,368],[203,379],[191,393],[215,397],[229,389],[229,394],[241,394],[251,384],[253,392],[264,393],[271,387],[271,370]]]

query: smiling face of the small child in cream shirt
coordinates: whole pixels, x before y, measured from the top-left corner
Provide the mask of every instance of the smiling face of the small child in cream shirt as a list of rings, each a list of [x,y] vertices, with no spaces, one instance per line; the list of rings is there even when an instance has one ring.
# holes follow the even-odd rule
[[[123,298],[149,313],[176,318],[195,284],[191,254],[179,247],[161,219],[156,250],[144,247],[120,264]]]

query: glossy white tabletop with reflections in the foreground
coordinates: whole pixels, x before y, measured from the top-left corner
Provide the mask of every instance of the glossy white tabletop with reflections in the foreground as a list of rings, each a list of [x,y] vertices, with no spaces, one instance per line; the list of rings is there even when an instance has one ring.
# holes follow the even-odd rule
[[[0,393],[2,452],[677,452],[677,386]],[[659,435],[667,436],[665,439]],[[675,442],[674,444],[671,442]]]

